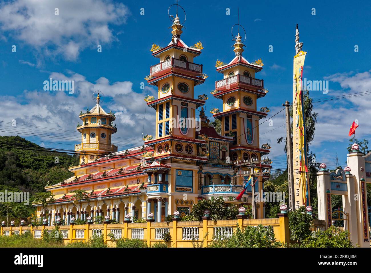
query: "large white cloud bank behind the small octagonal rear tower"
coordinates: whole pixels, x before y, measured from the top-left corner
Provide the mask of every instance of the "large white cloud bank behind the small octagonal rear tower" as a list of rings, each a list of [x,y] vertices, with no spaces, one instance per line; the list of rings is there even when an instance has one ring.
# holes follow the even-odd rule
[[[92,93],[100,90],[104,93],[101,100],[101,106],[105,111],[111,109],[115,113],[117,133],[113,135],[112,143],[119,146],[119,149],[126,147],[139,146],[139,142],[133,140],[122,140],[115,137],[125,137],[128,139],[141,139],[144,112],[148,108],[144,101],[147,90],[133,88],[132,82],[109,82],[109,79],[101,77],[95,82],[89,82],[86,77],[69,71],[66,75],[59,72],[52,72],[49,78],[53,80],[74,80],[75,93],[69,94],[68,91],[43,91],[43,82],[40,82],[40,90],[25,90],[18,96],[7,95],[0,101],[1,109],[4,111],[1,120],[11,122],[16,120],[17,124],[31,124],[39,126],[35,129],[35,134],[44,130],[48,137],[40,137],[41,140],[66,143],[73,141],[79,143],[79,133],[76,131],[76,124],[81,123],[79,112],[91,109],[95,105]],[[46,79],[47,80],[47,79]],[[137,91],[137,92],[135,92]],[[154,88],[148,88],[148,94],[157,94]],[[154,134],[155,111],[148,108],[145,114],[144,134]],[[4,129],[3,123],[0,123],[1,134],[30,137],[24,134],[22,126],[8,127]],[[53,129],[40,129],[40,127],[59,128],[72,131],[70,133],[61,132],[53,137],[50,133],[59,133]],[[7,130],[8,132],[3,132]],[[23,133],[22,133],[23,132]],[[76,133],[73,133],[76,132]],[[33,133],[31,134],[33,135]],[[66,137],[64,137],[66,135]],[[60,139],[62,137],[62,139]],[[53,140],[50,140],[53,139]],[[51,145],[53,146],[53,145]]]

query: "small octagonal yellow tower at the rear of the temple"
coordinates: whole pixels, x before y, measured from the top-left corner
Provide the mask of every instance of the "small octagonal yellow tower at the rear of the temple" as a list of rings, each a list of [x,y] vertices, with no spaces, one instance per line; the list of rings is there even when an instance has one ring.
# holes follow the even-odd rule
[[[115,115],[112,111],[106,113],[99,101],[98,92],[96,105],[90,111],[79,115],[82,124],[77,124],[77,130],[81,133],[81,143],[75,145],[75,151],[80,154],[80,165],[117,152],[117,146],[111,144],[111,135],[117,131],[116,125],[113,124]]]

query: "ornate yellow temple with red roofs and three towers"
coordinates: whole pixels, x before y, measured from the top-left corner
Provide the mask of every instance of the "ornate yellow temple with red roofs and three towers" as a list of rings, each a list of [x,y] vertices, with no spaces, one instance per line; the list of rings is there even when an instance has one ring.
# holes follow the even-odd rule
[[[57,217],[69,223],[72,217],[84,220],[108,215],[122,222],[127,214],[132,220],[147,219],[150,212],[160,222],[176,210],[187,215],[198,200],[218,196],[239,206],[251,204],[251,186],[236,199],[244,179],[234,176],[250,169],[233,163],[260,160],[269,153],[259,144],[259,120],[267,116],[264,109],[257,111],[257,99],[267,92],[263,80],[255,78],[262,64],[251,64],[242,57],[244,45],[238,35],[233,60],[217,66],[223,79],[215,83],[212,94],[223,101],[223,111],[214,108],[210,112],[221,120],[220,135],[205,114],[207,96],[194,96],[195,88],[207,78],[203,66],[195,63],[202,44],[187,46],[181,40],[182,28],[177,15],[170,43],[151,49],[159,60],[146,80],[158,89],[158,95],[145,101],[156,111],[155,135],[145,136],[142,147],[117,151],[111,144],[117,130],[115,115],[104,111],[98,93],[92,110],[79,115],[81,143],[75,151],[80,161],[69,168],[73,176],[46,186],[55,198],[47,211],[34,204],[37,215],[47,217],[49,225]],[[261,164],[261,168],[270,166]],[[259,177],[255,192],[263,190],[267,178]],[[72,193],[78,189],[86,192],[81,208]],[[257,202],[256,209],[257,217],[264,218],[263,202]]]

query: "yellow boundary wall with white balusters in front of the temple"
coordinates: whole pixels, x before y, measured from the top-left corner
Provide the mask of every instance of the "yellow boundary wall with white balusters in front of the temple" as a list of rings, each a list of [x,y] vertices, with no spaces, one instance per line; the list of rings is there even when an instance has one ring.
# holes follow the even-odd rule
[[[286,216],[286,217],[285,217]],[[172,221],[172,222],[145,222],[145,223],[127,223],[124,224],[85,224],[85,225],[60,225],[59,230],[65,234],[64,242],[72,243],[76,241],[88,241],[93,233],[102,233],[105,243],[112,246],[113,241],[108,236],[110,233],[115,233],[119,238],[140,238],[147,241],[148,246],[154,243],[162,242],[161,234],[170,232],[171,247],[192,247],[192,235],[198,235],[198,243],[203,241],[203,247],[211,243],[213,235],[217,231],[236,231],[237,223],[240,227],[246,226],[272,226],[277,241],[282,241],[288,246],[290,244],[289,221],[287,215],[279,218],[266,219],[242,219],[237,220],[202,220],[202,221]],[[33,237],[35,233],[41,238],[47,230],[53,230],[54,226],[35,226],[35,227],[1,227],[1,236],[12,236],[17,233],[22,234],[26,230],[30,230]],[[314,230],[325,230],[326,223],[324,220],[314,221]],[[38,230],[40,230],[38,232]],[[9,231],[9,234],[8,234]]]

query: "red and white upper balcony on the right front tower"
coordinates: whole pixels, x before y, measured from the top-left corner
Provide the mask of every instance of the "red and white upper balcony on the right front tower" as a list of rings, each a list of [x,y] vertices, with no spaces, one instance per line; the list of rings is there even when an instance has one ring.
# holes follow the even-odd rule
[[[215,82],[215,89],[217,91],[225,91],[236,87],[259,90],[264,88],[264,81],[262,79],[255,79],[237,74]]]

